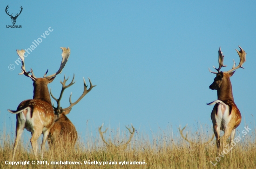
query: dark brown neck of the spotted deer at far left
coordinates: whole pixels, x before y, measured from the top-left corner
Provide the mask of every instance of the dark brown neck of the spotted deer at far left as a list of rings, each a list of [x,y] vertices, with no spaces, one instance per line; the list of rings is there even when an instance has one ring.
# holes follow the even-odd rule
[[[39,84],[34,87],[33,99],[43,100],[52,104],[47,84]]]

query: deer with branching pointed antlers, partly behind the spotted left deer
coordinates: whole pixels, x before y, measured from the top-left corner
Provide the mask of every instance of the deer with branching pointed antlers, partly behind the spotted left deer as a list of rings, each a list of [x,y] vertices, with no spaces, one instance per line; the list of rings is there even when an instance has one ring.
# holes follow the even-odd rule
[[[63,80],[63,82],[61,81],[62,89],[61,89],[61,94],[60,94],[59,99],[56,99],[54,97],[54,95],[52,94],[52,92],[50,91],[51,96],[57,102],[57,107],[53,106],[54,107],[54,125],[50,129],[50,134],[48,136],[48,143],[49,143],[50,147],[53,147],[55,144],[58,144],[61,147],[62,146],[74,147],[74,144],[77,141],[77,131],[76,131],[73,123],[67,118],[66,115],[68,113],[70,113],[70,111],[74,105],[76,105],[86,94],[88,94],[92,90],[92,88],[94,88],[96,86],[96,85],[93,86],[91,80],[89,79],[90,88],[87,89],[87,85],[84,80],[84,91],[83,91],[83,94],[80,96],[80,98],[78,100],[76,100],[74,103],[72,103],[72,101],[71,101],[72,93],[71,93],[70,97],[69,97],[70,106],[67,108],[62,108],[61,107],[61,98],[62,98],[64,90],[66,88],[72,86],[75,83],[75,82],[73,82],[74,76],[73,76],[73,80],[66,86],[67,80],[68,80],[68,78],[66,79],[66,77],[64,75],[64,80]]]

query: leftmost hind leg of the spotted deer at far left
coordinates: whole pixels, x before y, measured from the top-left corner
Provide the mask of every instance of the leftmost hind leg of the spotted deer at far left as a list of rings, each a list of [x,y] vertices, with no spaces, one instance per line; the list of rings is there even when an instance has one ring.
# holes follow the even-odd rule
[[[25,128],[25,121],[20,119],[19,118],[19,114],[17,114],[17,121],[16,121],[16,138],[15,138],[15,142],[14,142],[14,145],[13,145],[13,160],[14,160],[14,156],[15,156],[15,153],[16,153],[16,150],[17,150],[17,146],[18,146],[18,143],[20,141],[20,138],[21,138],[21,135],[22,135],[22,132]]]

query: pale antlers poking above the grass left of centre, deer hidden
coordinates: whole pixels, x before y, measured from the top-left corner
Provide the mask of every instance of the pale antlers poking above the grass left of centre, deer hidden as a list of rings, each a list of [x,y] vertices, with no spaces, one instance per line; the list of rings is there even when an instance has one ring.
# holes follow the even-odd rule
[[[105,132],[107,132],[108,128],[107,128],[105,131],[101,132],[101,128],[103,127],[103,125],[104,125],[104,124],[102,124],[101,127],[99,127],[99,133],[100,133],[100,135],[101,135],[102,141],[107,145],[107,148],[108,148],[108,149],[125,150],[125,149],[127,148],[127,145],[130,143],[130,141],[132,140],[132,138],[133,138],[133,136],[134,136],[135,128],[133,127],[133,125],[132,125],[133,131],[131,131],[131,128],[128,128],[127,126],[125,126],[125,127],[129,130],[129,132],[130,132],[131,135],[130,135],[128,141],[127,141],[125,144],[122,144],[122,142],[123,142],[123,141],[122,141],[121,144],[118,144],[118,145],[113,144],[113,143],[111,142],[110,138],[109,138],[109,141],[108,141],[108,142],[105,140],[105,138],[103,137],[103,134],[104,134]]]

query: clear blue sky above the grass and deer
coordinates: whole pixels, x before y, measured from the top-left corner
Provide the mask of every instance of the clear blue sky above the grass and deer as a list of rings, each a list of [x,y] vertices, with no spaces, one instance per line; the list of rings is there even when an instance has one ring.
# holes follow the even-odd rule
[[[6,27],[12,25],[7,5],[13,15],[23,7],[15,24],[22,28]],[[220,46],[228,65],[222,70],[231,69],[233,59],[238,64],[238,45],[247,52],[245,69],[231,77],[243,118],[238,129],[255,126],[255,9],[256,2],[238,0],[1,0],[0,131],[16,124],[7,109],[33,98],[33,81],[18,75],[16,50],[30,48],[49,27],[53,31],[26,57],[26,68],[37,77],[47,69],[53,74],[61,63],[60,47],[70,48],[66,67],[48,88],[58,97],[64,74],[75,74],[76,83],[61,100],[67,107],[71,92],[72,100],[81,95],[83,77],[97,85],[67,116],[79,133],[88,124],[97,134],[102,123],[121,130],[132,123],[146,132],[168,126],[176,132],[179,125],[191,127],[196,121],[212,126],[213,106],[206,103],[217,94],[209,89],[215,75],[208,68],[218,66]]]

